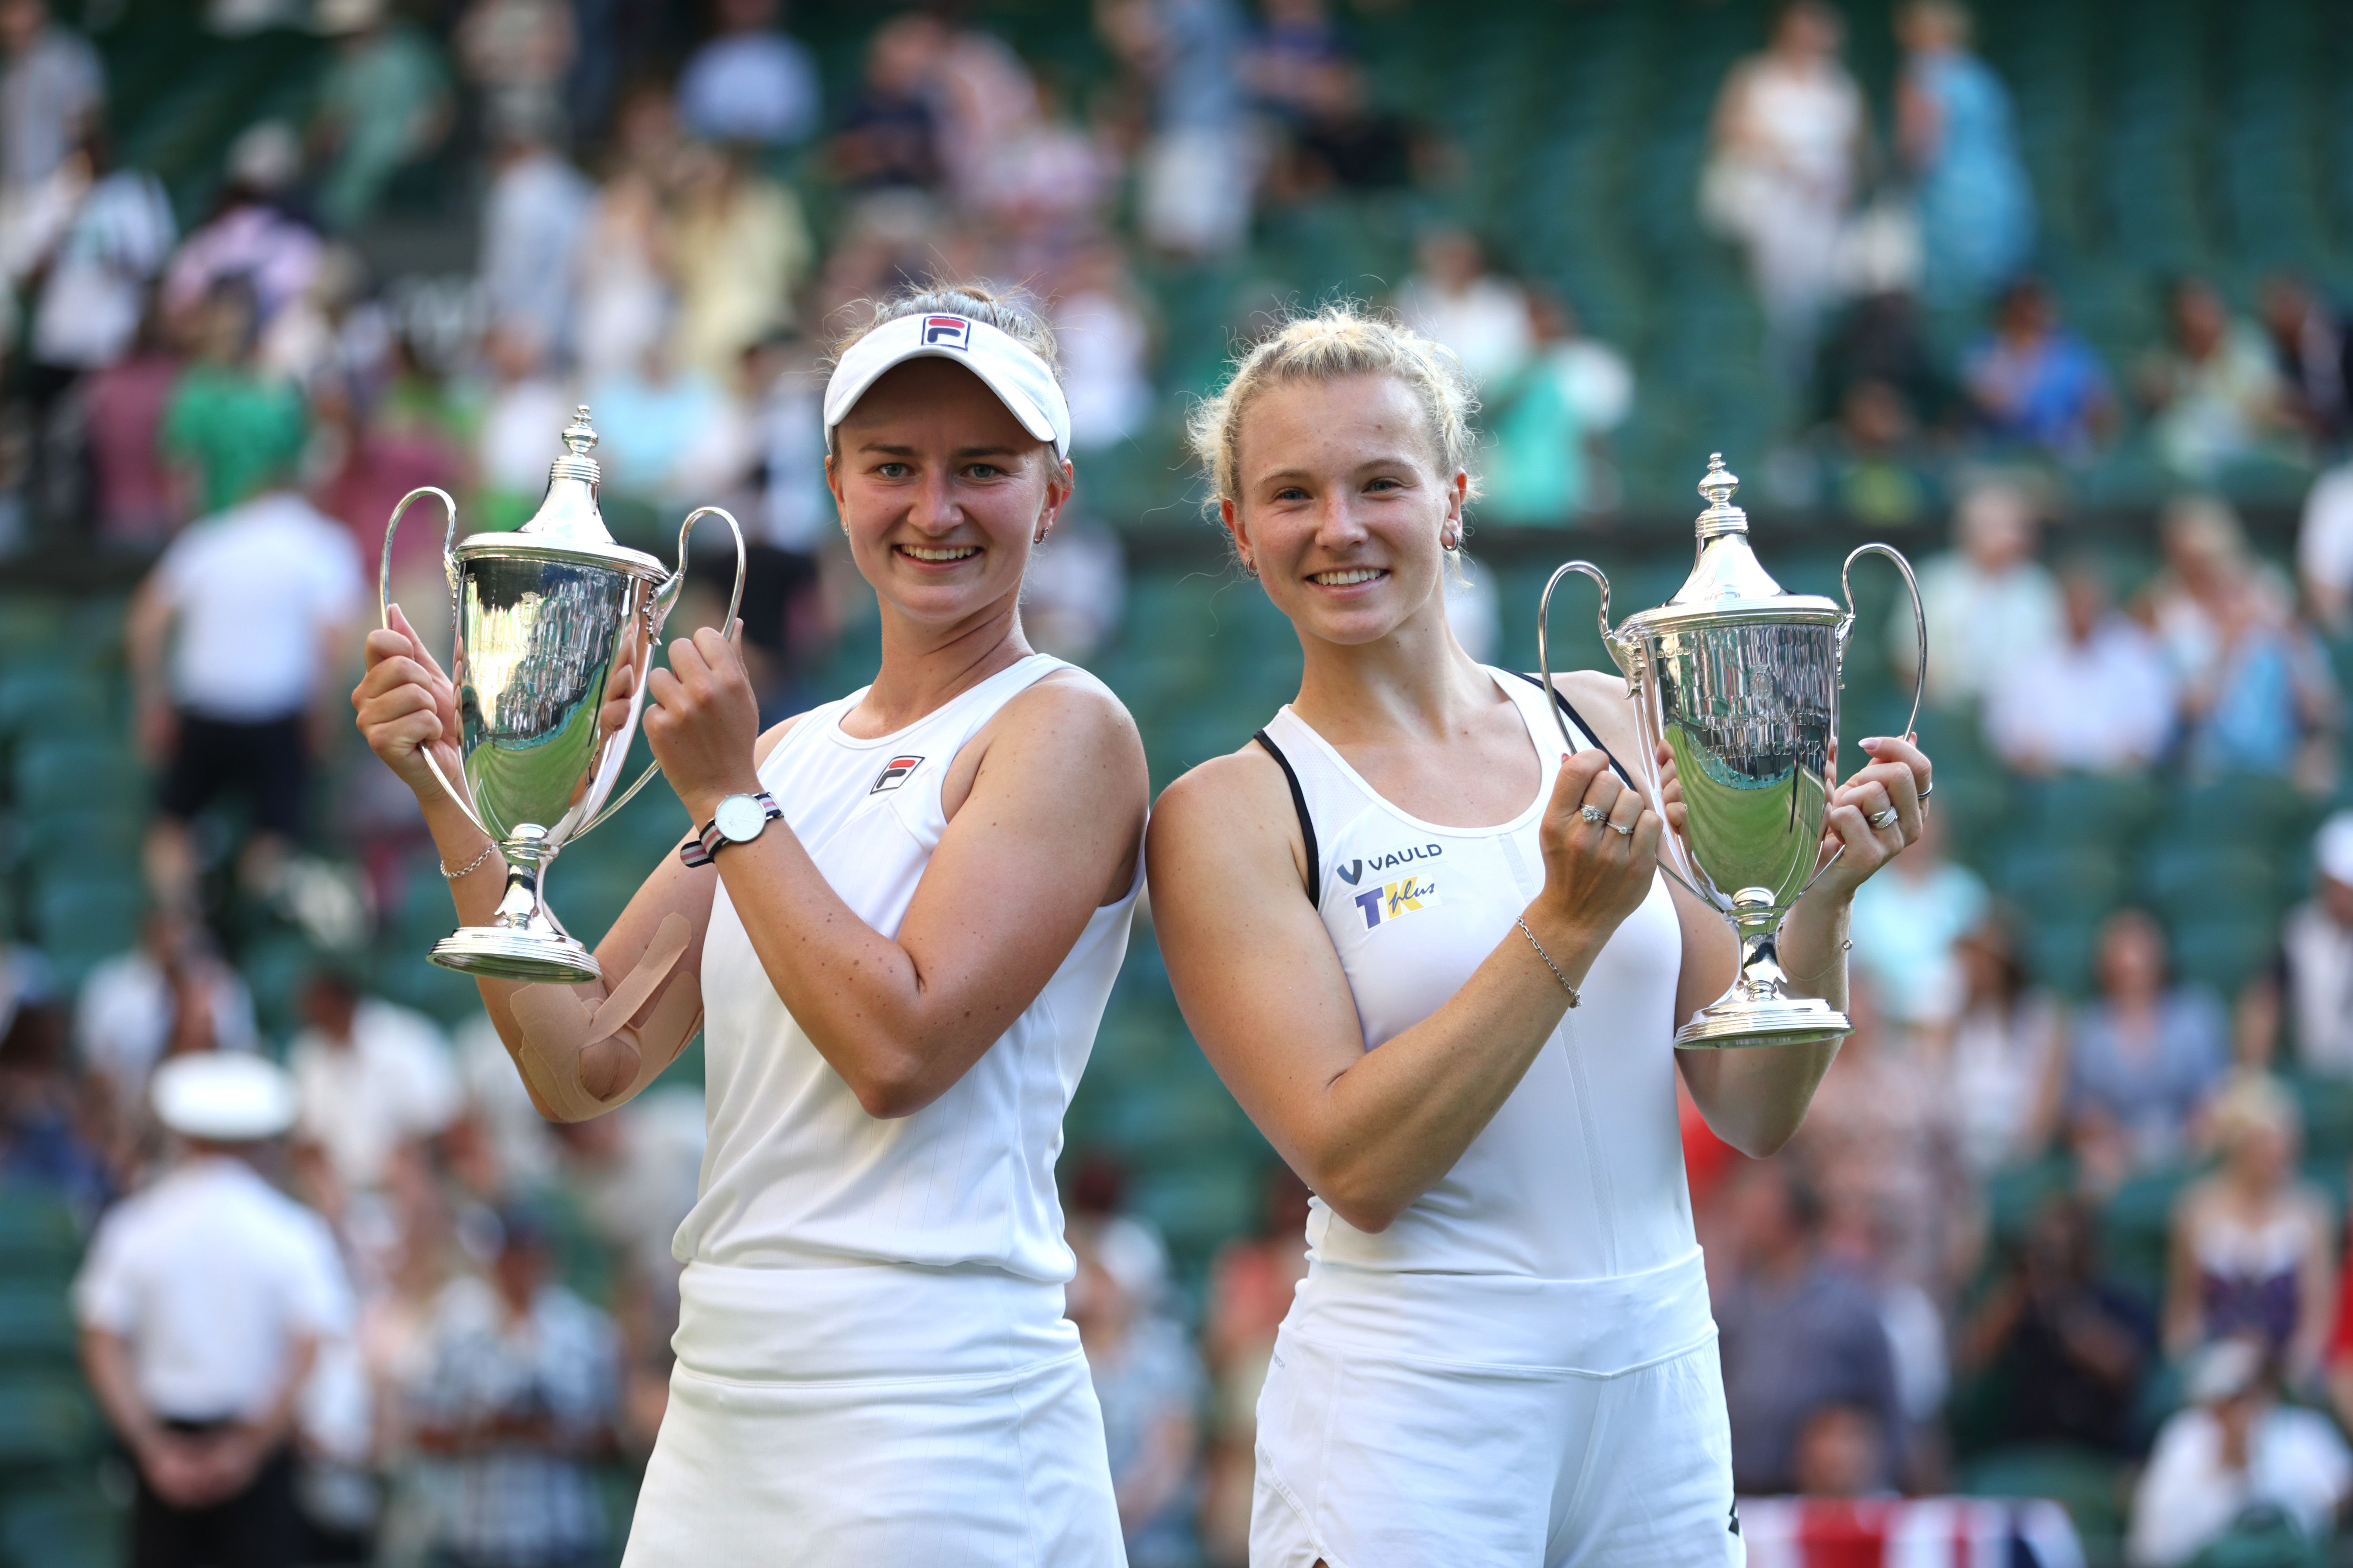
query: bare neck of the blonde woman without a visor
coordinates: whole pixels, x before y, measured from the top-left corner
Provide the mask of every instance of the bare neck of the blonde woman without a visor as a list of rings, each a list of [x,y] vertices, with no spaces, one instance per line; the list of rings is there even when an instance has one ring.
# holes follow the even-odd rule
[[[1454,642],[1445,602],[1435,597],[1379,642],[1344,646],[1301,632],[1299,644],[1306,668],[1292,712],[1341,748],[1351,741],[1445,741],[1497,703],[1494,682]]]

